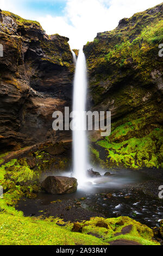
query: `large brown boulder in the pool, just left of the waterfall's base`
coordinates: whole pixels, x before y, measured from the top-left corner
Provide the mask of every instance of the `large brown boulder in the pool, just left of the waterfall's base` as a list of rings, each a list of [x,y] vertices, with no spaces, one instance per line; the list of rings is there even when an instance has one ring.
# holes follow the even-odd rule
[[[77,186],[77,179],[64,176],[48,176],[41,184],[42,189],[51,194],[73,193]]]

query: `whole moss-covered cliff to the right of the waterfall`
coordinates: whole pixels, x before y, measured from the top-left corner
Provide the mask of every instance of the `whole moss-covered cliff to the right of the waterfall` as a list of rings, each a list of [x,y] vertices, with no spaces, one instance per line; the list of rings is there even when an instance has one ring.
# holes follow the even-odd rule
[[[92,110],[111,111],[111,135],[91,136],[102,167],[163,168],[163,4],[120,21],[84,46]]]

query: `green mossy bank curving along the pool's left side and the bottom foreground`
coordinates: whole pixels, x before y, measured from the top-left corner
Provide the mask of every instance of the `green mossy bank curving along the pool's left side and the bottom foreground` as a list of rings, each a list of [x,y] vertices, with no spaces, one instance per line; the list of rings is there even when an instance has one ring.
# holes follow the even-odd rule
[[[26,192],[26,182],[34,177],[32,171],[25,167],[15,159],[0,168],[0,185],[5,188],[4,198],[0,199],[0,245],[109,245],[116,239],[136,241],[141,245],[159,245],[153,240],[152,229],[129,217],[91,218],[90,221],[78,223],[82,226],[82,233],[72,232],[73,223],[70,222],[60,227],[57,222],[62,223],[62,220],[58,218],[42,220],[41,216],[24,217],[14,205]],[[18,181],[22,185],[15,185]],[[104,227],[99,227],[98,222]],[[122,229],[129,225],[131,230],[122,235]]]

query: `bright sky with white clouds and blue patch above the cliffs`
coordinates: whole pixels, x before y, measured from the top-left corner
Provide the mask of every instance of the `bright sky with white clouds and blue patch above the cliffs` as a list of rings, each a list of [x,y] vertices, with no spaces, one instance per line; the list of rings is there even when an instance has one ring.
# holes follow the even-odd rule
[[[47,34],[70,38],[71,48],[82,48],[98,32],[117,27],[124,17],[160,4],[161,0],[0,0],[0,9],[39,21]]]

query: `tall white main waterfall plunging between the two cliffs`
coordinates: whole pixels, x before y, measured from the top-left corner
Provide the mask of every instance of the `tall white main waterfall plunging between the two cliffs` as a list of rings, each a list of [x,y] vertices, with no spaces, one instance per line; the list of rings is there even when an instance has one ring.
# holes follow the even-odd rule
[[[81,186],[86,180],[87,170],[87,138],[86,120],[83,114],[86,111],[86,59],[82,50],[79,51],[73,83],[73,176],[78,179]]]

